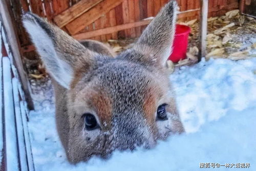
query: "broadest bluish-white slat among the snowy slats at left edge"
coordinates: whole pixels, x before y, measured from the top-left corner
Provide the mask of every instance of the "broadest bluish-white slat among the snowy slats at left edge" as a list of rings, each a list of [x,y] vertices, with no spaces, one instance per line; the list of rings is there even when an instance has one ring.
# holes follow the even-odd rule
[[[15,113],[13,105],[11,63],[8,57],[3,58],[3,84],[4,84],[4,119],[6,140],[6,167],[7,171],[19,170],[18,146],[15,127]]]

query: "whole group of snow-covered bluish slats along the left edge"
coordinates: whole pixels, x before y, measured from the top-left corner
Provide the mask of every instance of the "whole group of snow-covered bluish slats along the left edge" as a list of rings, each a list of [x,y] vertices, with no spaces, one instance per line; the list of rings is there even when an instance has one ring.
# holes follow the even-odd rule
[[[27,104],[1,21],[0,47],[0,170],[34,171]]]

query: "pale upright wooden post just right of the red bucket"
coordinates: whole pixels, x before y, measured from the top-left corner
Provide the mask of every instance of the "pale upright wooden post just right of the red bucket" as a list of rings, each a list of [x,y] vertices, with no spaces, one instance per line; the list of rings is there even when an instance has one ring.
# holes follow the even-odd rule
[[[199,61],[206,56],[208,0],[201,0]]]

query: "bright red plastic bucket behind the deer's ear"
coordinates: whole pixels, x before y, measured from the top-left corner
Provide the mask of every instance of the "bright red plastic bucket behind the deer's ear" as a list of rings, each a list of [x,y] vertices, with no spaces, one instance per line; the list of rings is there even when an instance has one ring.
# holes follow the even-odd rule
[[[186,58],[188,35],[190,28],[184,25],[176,25],[176,33],[173,43],[173,52],[169,56],[169,60],[178,62],[180,59]]]

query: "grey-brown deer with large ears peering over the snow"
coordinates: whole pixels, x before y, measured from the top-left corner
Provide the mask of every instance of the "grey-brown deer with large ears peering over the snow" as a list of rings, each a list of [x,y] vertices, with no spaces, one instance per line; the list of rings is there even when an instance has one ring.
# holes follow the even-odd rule
[[[79,43],[45,19],[24,15],[54,84],[57,130],[71,163],[114,149],[151,148],[184,132],[166,67],[177,8],[175,1],[165,5],[133,47],[115,58],[103,43]]]

